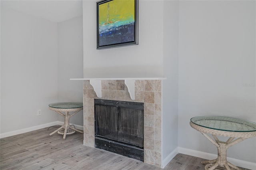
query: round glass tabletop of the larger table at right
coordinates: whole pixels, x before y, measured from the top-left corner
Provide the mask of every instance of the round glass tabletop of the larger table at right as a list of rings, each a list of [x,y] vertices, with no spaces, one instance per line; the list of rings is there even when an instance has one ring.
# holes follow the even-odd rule
[[[196,125],[216,130],[232,132],[256,131],[256,123],[231,117],[199,116],[193,117],[190,121]]]

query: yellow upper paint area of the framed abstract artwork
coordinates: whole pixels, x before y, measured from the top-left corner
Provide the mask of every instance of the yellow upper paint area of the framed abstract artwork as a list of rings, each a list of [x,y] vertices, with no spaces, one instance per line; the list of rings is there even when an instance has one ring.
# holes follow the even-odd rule
[[[99,5],[99,24],[134,22],[135,0],[112,0]]]

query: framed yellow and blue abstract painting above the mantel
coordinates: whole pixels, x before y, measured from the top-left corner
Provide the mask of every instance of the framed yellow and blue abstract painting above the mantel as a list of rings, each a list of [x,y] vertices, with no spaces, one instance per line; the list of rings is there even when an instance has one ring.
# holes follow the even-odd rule
[[[138,44],[138,0],[97,2],[97,49]]]

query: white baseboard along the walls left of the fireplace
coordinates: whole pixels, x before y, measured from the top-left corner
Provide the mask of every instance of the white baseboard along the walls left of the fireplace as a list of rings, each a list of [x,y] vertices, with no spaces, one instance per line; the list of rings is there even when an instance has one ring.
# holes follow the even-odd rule
[[[33,130],[38,130],[38,129],[41,129],[41,128],[51,127],[51,126],[54,126],[54,125],[63,125],[63,124],[64,124],[64,122],[56,121],[56,122],[46,123],[46,124],[38,125],[38,126],[34,126],[34,127],[14,130],[14,131],[11,131],[11,132],[1,133],[0,138],[6,138],[6,137],[9,137],[9,136],[14,136],[16,134],[22,134],[22,133],[26,133],[26,132],[31,132]],[[80,125],[74,125],[74,126],[79,130],[84,130],[83,126],[80,126]]]

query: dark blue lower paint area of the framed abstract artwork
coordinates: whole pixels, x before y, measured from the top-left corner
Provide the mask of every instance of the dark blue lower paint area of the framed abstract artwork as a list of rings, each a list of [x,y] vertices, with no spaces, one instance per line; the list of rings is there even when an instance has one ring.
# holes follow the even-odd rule
[[[99,46],[134,42],[134,22],[111,27],[99,33]]]

